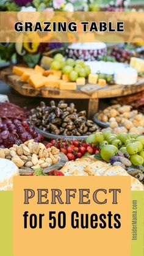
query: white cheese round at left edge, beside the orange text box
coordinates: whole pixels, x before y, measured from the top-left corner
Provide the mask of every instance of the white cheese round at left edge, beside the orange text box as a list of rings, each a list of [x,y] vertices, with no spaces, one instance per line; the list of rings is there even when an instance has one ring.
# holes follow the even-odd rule
[[[18,167],[7,159],[0,158],[0,191],[13,189],[13,177],[19,175]]]

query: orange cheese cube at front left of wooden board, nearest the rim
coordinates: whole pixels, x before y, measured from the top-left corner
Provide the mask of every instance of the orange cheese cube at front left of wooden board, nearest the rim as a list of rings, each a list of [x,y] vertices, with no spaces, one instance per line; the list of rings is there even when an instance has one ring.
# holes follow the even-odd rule
[[[29,78],[29,84],[34,88],[40,88],[40,87],[45,86],[47,81],[48,81],[48,78],[41,75],[41,73],[37,73],[35,75],[32,75]]]

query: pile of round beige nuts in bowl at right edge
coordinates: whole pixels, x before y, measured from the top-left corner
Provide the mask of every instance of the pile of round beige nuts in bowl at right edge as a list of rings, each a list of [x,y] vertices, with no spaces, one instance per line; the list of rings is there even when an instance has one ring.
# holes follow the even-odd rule
[[[99,111],[98,119],[109,122],[113,133],[144,133],[144,115],[129,105],[115,104]]]

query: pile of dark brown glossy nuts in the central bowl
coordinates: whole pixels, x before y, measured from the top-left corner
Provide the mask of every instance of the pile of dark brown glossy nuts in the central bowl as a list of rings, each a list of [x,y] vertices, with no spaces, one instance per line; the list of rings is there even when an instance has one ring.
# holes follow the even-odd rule
[[[77,112],[74,103],[68,106],[64,101],[59,101],[56,106],[51,101],[50,106],[44,102],[31,110],[31,122],[43,131],[64,136],[82,136],[95,133],[98,126],[92,120],[87,120],[86,111]]]

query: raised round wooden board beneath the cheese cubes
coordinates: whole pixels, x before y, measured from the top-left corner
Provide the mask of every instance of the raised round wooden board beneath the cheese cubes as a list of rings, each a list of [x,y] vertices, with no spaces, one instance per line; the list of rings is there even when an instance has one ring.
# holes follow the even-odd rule
[[[104,86],[90,85],[92,89],[85,86],[77,86],[77,90],[59,90],[49,87],[41,87],[35,89],[26,82],[21,82],[20,76],[12,73],[12,68],[5,68],[0,72],[0,79],[13,87],[17,92],[24,96],[44,97],[44,98],[75,98],[75,99],[98,99],[98,98],[114,98],[124,95],[130,95],[144,90],[144,78],[139,78],[137,83],[132,86]]]

